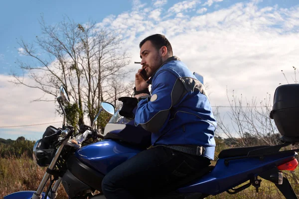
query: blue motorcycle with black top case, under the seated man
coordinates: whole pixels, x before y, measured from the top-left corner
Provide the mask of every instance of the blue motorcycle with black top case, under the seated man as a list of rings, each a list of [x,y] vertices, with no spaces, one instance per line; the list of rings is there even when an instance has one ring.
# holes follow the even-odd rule
[[[274,183],[287,199],[298,199],[282,171],[296,169],[299,149],[281,151],[283,147],[299,143],[299,129],[294,127],[298,122],[298,99],[299,85],[282,85],[275,91],[270,116],[282,134],[282,144],[223,150],[215,166],[198,171],[193,180],[186,179],[180,182],[176,190],[149,198],[203,199],[222,192],[237,194],[250,186],[254,186],[258,192],[264,179]],[[47,167],[39,187],[36,191],[17,192],[5,196],[4,199],[55,199],[61,184],[69,199],[105,199],[101,187],[105,175],[142,150],[146,150],[148,142],[144,138],[150,133],[136,127],[134,118],[121,116],[112,104],[102,102],[93,124],[81,125],[80,132],[83,133],[75,134],[74,128],[65,124],[66,114],[62,104],[69,99],[63,87],[60,88],[57,100],[64,114],[62,128],[49,126],[33,148],[34,162],[38,166]],[[105,127],[104,134],[94,128],[102,110],[113,115]],[[136,131],[142,133],[132,135]],[[127,135],[137,140],[129,140]],[[98,138],[103,140],[82,146],[87,140]],[[50,183],[44,193],[48,181]],[[242,186],[235,188],[240,185]],[[99,193],[95,194],[95,191]]]

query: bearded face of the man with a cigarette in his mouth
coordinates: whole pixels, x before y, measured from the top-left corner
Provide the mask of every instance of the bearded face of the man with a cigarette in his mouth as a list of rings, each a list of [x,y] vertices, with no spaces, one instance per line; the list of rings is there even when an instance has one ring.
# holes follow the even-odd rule
[[[153,73],[162,65],[162,56],[150,41],[146,41],[140,48],[140,58],[142,68],[147,71],[147,76],[151,77]]]

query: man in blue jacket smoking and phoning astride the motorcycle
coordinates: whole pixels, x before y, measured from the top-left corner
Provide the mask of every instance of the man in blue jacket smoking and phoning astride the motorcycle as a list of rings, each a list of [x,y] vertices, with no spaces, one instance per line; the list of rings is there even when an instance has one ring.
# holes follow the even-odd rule
[[[140,57],[150,79],[142,78],[142,69],[135,76],[135,124],[152,132],[152,146],[106,175],[107,199],[142,199],[175,189],[214,157],[216,120],[203,85],[172,55],[163,35],[145,38]]]

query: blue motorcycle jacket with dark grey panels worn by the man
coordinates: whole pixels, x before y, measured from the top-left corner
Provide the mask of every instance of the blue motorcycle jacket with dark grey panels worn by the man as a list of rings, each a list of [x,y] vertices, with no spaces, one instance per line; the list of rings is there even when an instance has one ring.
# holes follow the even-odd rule
[[[203,85],[175,56],[148,81],[151,96],[139,99],[135,125],[151,133],[151,144],[202,146],[214,159],[216,119]]]

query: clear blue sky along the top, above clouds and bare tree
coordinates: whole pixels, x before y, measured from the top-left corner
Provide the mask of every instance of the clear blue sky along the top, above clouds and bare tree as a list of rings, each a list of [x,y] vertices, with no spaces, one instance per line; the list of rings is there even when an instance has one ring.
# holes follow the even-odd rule
[[[223,0],[217,2],[217,6],[208,5],[208,12],[226,8],[237,2],[248,2],[250,0]],[[151,0],[143,0],[142,3],[152,4]],[[180,0],[168,0],[163,6],[164,10],[169,9]],[[204,3],[204,1],[202,1]],[[68,16],[78,23],[85,23],[88,20],[102,21],[109,15],[118,15],[132,9],[133,0],[89,0],[83,3],[78,0],[7,0],[2,1],[0,6],[0,74],[9,74],[10,69],[15,68],[15,60],[18,58],[17,39],[24,39],[32,42],[36,35],[40,35],[38,20],[43,15],[47,24],[55,24]],[[289,8],[298,5],[297,0],[263,0],[259,7],[279,5],[281,8]],[[192,15],[192,13],[189,13]],[[193,11],[195,14],[195,11]],[[137,24],[138,25],[138,24]],[[23,58],[25,59],[25,58]]]

